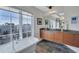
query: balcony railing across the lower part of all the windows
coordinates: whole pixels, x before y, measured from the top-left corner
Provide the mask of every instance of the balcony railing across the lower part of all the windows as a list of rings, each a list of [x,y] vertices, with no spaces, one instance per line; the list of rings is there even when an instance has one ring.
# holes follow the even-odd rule
[[[26,33],[23,32],[22,34],[23,34],[23,38],[30,37],[31,31],[26,32]],[[0,45],[6,44],[6,43],[11,42],[13,40],[19,40],[19,33],[0,35]]]

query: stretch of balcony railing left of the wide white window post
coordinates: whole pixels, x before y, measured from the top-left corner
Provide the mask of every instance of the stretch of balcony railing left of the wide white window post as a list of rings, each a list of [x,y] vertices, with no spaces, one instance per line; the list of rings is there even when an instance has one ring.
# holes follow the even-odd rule
[[[0,35],[0,44],[6,44],[6,43],[12,41],[11,38],[12,38],[12,40],[18,40],[19,33]]]

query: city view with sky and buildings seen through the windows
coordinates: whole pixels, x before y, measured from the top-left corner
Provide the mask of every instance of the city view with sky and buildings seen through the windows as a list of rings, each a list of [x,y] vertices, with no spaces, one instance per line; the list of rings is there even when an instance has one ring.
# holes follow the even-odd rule
[[[0,9],[0,45],[19,39],[19,15]],[[22,15],[22,35],[31,36],[31,16]]]

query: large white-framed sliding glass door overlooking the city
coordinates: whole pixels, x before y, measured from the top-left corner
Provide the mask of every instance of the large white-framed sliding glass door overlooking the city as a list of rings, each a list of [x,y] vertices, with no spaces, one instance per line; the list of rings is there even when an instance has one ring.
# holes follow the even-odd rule
[[[0,52],[17,52],[23,44],[20,41],[32,36],[33,17],[8,8],[0,9]]]

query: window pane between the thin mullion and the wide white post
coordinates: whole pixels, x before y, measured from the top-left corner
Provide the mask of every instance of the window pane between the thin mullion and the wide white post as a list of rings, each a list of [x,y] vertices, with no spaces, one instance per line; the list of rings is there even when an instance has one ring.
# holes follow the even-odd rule
[[[10,12],[11,34],[14,40],[19,39],[19,14]]]

